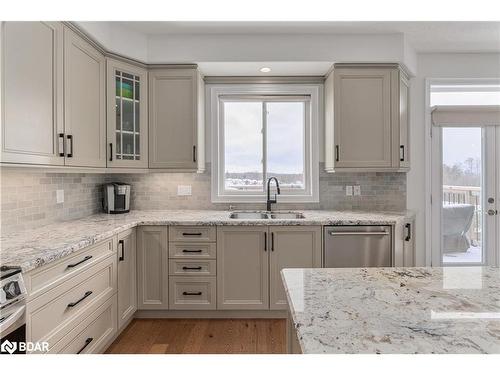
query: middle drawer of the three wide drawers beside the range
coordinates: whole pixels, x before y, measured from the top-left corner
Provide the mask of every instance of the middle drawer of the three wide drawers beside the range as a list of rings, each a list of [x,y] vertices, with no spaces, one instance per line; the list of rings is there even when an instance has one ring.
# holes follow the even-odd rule
[[[57,342],[115,291],[116,258],[111,256],[30,301],[26,339]]]

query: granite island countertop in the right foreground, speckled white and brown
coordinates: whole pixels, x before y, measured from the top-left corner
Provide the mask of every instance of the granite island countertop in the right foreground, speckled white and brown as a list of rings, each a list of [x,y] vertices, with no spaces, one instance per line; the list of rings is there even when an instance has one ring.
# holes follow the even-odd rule
[[[500,353],[500,268],[285,269],[302,352]]]

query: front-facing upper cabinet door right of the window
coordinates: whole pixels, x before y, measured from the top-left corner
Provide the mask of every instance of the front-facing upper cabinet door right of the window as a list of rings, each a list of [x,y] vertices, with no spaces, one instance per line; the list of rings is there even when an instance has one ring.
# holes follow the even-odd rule
[[[392,165],[391,70],[334,72],[335,168]]]

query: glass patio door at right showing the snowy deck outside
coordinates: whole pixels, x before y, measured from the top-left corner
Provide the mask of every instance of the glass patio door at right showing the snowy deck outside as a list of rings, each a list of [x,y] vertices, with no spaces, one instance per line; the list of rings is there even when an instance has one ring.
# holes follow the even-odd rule
[[[433,265],[495,265],[498,129],[443,126],[436,132],[441,160],[432,205],[440,252]]]

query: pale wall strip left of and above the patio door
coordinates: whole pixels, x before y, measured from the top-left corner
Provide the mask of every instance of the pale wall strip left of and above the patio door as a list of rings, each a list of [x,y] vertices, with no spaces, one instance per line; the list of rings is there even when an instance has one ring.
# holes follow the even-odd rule
[[[426,155],[425,141],[425,79],[426,78],[500,78],[498,53],[418,54],[417,76],[410,89],[411,171],[407,176],[407,204],[417,212],[417,264],[430,264],[430,244],[426,244],[429,224],[425,220]],[[429,164],[430,165],[430,164]],[[427,251],[426,251],[427,250]],[[427,253],[427,257],[426,257]]]

